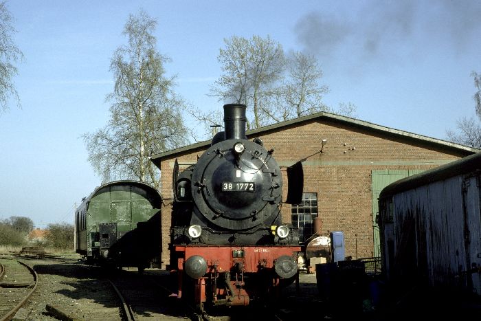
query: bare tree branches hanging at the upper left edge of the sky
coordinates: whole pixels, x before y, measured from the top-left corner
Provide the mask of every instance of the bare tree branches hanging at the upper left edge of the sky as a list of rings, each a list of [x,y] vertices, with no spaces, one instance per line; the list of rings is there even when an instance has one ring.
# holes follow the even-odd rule
[[[0,114],[8,111],[10,98],[20,107],[19,93],[13,78],[18,74],[14,63],[23,59],[23,53],[12,41],[16,32],[12,23],[14,19],[7,9],[6,1],[0,2]]]

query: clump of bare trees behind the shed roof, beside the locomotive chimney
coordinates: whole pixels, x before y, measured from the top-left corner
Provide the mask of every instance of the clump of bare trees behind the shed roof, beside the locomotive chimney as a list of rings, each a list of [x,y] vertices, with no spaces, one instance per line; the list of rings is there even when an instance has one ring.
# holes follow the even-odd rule
[[[319,111],[333,111],[322,102],[328,87],[322,85],[317,58],[302,52],[284,54],[269,36],[225,39],[217,60],[222,74],[210,89],[219,101],[247,105],[247,129],[291,120]],[[354,104],[340,104],[339,113],[353,115]],[[212,122],[210,115],[207,119]],[[204,124],[205,117],[199,119]]]

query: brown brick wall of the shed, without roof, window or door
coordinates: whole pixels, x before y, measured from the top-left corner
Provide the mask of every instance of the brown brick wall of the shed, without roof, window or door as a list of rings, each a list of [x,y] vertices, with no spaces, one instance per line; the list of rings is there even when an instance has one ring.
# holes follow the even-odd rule
[[[329,120],[312,120],[284,126],[260,135],[265,147],[275,148],[274,157],[280,166],[290,166],[320,151],[323,139],[328,140],[323,153],[304,162],[304,192],[317,192],[322,231],[344,231],[346,256],[372,256],[372,192],[371,171],[384,169],[426,170],[469,155],[465,151],[443,148],[425,140],[392,135]],[[254,138],[254,137],[251,137]],[[192,164],[202,152],[175,155],[182,164]],[[162,261],[168,264],[170,201],[172,201],[172,168],[175,162],[161,162]],[[285,168],[284,199],[287,195]],[[282,204],[284,221],[291,220],[291,206]]]

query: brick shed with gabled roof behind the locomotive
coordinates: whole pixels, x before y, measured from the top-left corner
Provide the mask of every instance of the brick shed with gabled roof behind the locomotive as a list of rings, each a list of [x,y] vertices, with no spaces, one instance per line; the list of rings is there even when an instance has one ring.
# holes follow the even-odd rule
[[[282,168],[283,199],[287,195],[287,166],[303,160],[304,194],[300,205],[282,204],[284,221],[300,228],[302,239],[314,233],[313,218],[322,219],[322,232],[343,231],[346,256],[379,256],[377,197],[392,181],[447,164],[478,152],[476,148],[390,129],[333,113],[315,113],[247,131],[261,137]],[[322,146],[322,140],[326,144]],[[210,141],[192,144],[151,160],[161,170],[162,261],[169,264],[168,243],[172,170],[194,164]],[[322,148],[322,153],[321,153]]]

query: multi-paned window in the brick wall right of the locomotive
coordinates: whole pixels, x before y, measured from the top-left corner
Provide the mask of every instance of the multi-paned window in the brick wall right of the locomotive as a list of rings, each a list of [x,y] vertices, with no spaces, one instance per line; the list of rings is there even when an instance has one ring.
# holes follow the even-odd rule
[[[317,217],[317,193],[302,193],[302,202],[291,206],[292,225],[299,228],[299,241],[304,242],[314,234]]]

